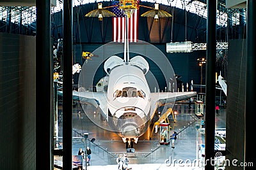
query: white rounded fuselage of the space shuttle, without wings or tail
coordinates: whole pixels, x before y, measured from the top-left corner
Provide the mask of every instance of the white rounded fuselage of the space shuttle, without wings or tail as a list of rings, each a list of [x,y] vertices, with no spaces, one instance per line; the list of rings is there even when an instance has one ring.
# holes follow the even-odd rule
[[[108,111],[120,137],[138,138],[147,131],[150,106],[150,89],[140,67],[124,64],[111,69]]]

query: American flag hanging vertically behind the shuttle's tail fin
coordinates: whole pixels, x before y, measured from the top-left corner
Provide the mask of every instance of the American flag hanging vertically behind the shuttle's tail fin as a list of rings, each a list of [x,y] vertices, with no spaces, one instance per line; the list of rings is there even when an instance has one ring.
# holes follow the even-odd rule
[[[119,4],[119,1],[113,1],[112,5]],[[118,43],[124,43],[124,34],[125,34],[125,15],[118,8],[118,6],[113,7],[113,13],[116,17],[113,17],[113,41]],[[134,13],[128,18],[128,36],[129,42],[138,41],[138,10],[135,10]]]

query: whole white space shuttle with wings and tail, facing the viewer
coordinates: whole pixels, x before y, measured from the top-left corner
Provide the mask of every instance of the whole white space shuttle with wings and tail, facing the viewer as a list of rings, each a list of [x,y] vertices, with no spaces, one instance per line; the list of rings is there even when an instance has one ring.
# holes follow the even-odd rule
[[[159,101],[174,103],[196,96],[196,92],[150,92],[145,77],[149,69],[147,60],[140,55],[130,59],[125,35],[124,59],[113,55],[104,62],[107,76],[99,81],[101,89],[73,91],[73,99],[100,108],[111,131],[122,138],[126,148],[133,148],[147,131]]]

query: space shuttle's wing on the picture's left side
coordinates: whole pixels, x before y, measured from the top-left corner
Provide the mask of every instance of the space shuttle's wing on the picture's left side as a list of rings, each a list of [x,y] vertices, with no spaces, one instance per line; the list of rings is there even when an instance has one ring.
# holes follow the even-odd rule
[[[58,95],[62,96],[63,91],[58,90]],[[100,108],[102,116],[108,120],[108,103],[105,97],[105,92],[77,92],[73,91],[73,100],[82,103],[89,103]]]

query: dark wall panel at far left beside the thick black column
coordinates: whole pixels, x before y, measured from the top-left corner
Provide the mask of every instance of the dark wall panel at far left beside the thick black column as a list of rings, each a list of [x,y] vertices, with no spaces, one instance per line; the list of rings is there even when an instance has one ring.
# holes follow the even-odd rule
[[[35,169],[35,37],[0,41],[0,169]]]

